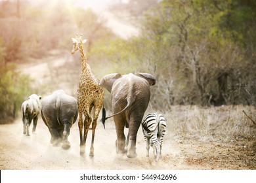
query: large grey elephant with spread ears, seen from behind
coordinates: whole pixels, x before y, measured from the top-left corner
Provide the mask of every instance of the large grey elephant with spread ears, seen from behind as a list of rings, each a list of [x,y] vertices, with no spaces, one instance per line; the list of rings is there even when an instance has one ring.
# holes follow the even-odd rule
[[[100,86],[112,95],[112,112],[116,125],[116,152],[121,154],[127,148],[127,157],[135,158],[137,131],[144,112],[150,101],[150,86],[156,84],[156,78],[148,73],[104,76]],[[110,116],[110,117],[112,117]],[[108,117],[108,118],[110,118]],[[129,127],[125,144],[124,128]]]

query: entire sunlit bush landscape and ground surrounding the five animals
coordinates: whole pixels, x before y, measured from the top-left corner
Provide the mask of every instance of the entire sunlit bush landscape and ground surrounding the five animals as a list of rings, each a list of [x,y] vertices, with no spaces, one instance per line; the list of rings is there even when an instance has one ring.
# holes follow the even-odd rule
[[[255,20],[253,0],[0,1],[0,168],[255,169],[256,125],[242,112],[255,121]],[[112,119],[106,130],[98,123],[95,159],[79,156],[77,124],[68,151],[51,146],[41,117],[37,135],[22,134],[29,95],[63,89],[76,97],[77,33],[98,79],[156,76],[147,112],[167,120],[161,163],[152,152],[145,159],[140,129],[138,158],[116,156]],[[104,105],[110,112],[107,91]]]

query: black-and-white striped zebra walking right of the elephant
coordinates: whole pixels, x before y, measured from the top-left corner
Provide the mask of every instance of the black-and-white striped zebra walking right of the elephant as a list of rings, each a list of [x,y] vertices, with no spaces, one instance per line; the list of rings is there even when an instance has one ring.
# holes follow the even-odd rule
[[[146,156],[149,156],[150,146],[153,147],[156,161],[161,158],[161,146],[165,136],[166,122],[162,114],[148,114],[142,121],[142,132],[146,141]]]

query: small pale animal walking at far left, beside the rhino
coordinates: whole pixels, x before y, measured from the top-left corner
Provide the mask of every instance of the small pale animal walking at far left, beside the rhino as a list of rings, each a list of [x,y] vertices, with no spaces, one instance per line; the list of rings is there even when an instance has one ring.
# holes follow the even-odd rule
[[[23,133],[27,136],[30,136],[30,124],[33,120],[33,130],[37,127],[38,115],[40,113],[40,100],[41,96],[32,94],[28,97],[28,100],[22,103],[21,112],[22,112],[22,122],[23,122]]]

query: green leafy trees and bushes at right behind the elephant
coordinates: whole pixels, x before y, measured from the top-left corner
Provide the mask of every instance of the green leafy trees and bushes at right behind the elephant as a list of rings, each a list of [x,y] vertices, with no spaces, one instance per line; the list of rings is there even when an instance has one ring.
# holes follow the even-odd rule
[[[247,29],[249,35],[245,31],[256,25],[253,5],[239,0],[163,0],[144,12],[140,37],[102,44],[98,56],[119,69],[125,65],[123,71],[154,74],[156,108],[163,101],[169,105],[253,104],[255,100],[246,98],[256,96],[251,88],[255,75],[249,69],[255,67],[255,56],[247,58],[255,48],[256,33],[251,31],[255,28]]]

